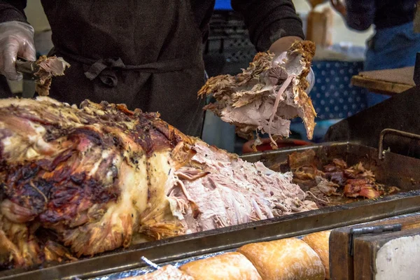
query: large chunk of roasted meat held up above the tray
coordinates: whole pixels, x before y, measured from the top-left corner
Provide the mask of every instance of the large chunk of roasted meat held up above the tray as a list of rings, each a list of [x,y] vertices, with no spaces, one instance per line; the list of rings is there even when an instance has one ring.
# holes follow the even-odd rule
[[[235,125],[241,137],[253,138],[254,131],[269,134],[272,146],[272,137],[288,137],[290,119],[299,116],[311,139],[316,113],[305,90],[314,54],[311,41],[296,41],[279,64],[271,53],[259,52],[237,76],[209,78],[198,94],[211,95],[216,102],[204,109]]]

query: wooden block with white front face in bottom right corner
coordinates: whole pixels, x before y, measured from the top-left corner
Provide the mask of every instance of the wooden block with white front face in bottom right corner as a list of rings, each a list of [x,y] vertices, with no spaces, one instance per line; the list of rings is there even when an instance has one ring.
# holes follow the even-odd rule
[[[419,228],[354,239],[354,280],[418,280]]]

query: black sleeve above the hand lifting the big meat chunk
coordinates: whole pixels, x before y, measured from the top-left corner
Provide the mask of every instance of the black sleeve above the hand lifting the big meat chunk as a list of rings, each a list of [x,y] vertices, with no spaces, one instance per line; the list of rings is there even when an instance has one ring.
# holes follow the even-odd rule
[[[285,36],[304,38],[302,20],[292,0],[231,0],[232,8],[244,16],[252,43],[266,51]]]

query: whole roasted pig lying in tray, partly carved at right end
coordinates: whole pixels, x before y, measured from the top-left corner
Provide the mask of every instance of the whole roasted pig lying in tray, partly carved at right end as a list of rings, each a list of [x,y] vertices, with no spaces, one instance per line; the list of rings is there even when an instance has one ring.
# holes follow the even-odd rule
[[[0,167],[3,266],[316,209],[290,172],[106,102],[1,99]]]

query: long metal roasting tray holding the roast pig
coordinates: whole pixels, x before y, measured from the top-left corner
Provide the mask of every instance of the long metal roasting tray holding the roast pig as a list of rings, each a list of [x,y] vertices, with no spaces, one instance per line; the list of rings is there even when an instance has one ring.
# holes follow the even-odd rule
[[[377,174],[379,182],[398,186],[405,193],[152,241],[53,267],[10,269],[0,272],[0,279],[72,279],[76,276],[89,279],[145,267],[142,256],[160,264],[226,251],[254,241],[296,237],[420,211],[420,160],[414,158],[386,153],[384,159],[379,160],[377,149],[351,143],[330,143],[257,153],[243,158],[250,162],[262,160],[269,167],[283,162],[293,151],[306,149],[316,151],[321,161],[325,162],[337,156],[346,160],[349,165],[362,161]]]

